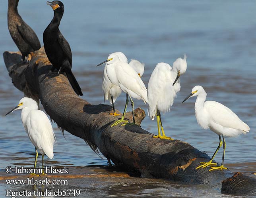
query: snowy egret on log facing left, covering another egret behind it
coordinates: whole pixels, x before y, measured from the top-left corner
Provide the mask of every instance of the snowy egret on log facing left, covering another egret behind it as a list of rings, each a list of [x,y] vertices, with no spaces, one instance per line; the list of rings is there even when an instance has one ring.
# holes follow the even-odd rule
[[[109,81],[115,86],[119,86],[119,88],[126,93],[126,104],[124,112],[122,114],[122,118],[120,120],[117,120],[111,126],[116,126],[121,122],[125,122],[124,124],[122,124],[122,126],[128,124],[128,121],[124,120],[124,114],[126,112],[126,108],[129,102],[128,96],[132,105],[133,118],[133,122],[129,123],[128,125],[135,124],[134,103],[132,101],[132,98],[136,98],[138,100],[142,99],[145,103],[147,103],[147,89],[144,83],[142,82],[138,73],[128,63],[120,61],[120,58],[116,54],[109,55],[108,59],[106,61],[103,61],[99,65],[102,65],[103,63],[107,63],[105,68],[106,76]]]

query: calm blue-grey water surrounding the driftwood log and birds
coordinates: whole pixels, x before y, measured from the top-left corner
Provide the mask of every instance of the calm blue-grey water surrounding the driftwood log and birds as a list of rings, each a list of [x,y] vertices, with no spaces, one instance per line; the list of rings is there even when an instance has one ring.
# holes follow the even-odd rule
[[[208,100],[218,101],[231,108],[251,128],[246,135],[226,139],[225,164],[231,171],[242,171],[248,175],[256,172],[256,2],[63,2],[65,13],[60,30],[70,43],[72,70],[83,89],[84,99],[93,104],[104,102],[101,90],[103,67],[96,68],[95,65],[104,61],[109,53],[122,51],[128,59],[134,58],[145,63],[142,80],[146,85],[157,63],[171,65],[177,57],[186,53],[188,69],[181,77],[182,89],[171,112],[162,116],[165,133],[187,141],[210,156],[213,154],[218,137],[198,126],[194,116],[195,99],[181,104],[193,86],[202,85],[208,92]],[[19,13],[43,44],[43,31],[52,19],[52,9],[45,1],[20,1]],[[17,51],[7,28],[7,1],[2,1],[0,6],[0,27],[0,53]],[[3,59],[0,59],[0,66],[1,174],[2,168],[8,165],[32,166],[34,147],[23,129],[20,112],[3,116],[17,105],[23,93],[12,85]],[[116,109],[122,111],[124,101],[123,93],[115,103]],[[135,106],[144,110],[147,108],[142,101],[135,101]],[[107,160],[99,158],[82,139],[66,131],[64,139],[56,124],[53,127],[58,144],[54,147],[54,160],[47,159],[47,165],[74,168],[92,164],[107,165]],[[156,120],[151,121],[146,117],[142,128],[157,133]],[[215,160],[221,162],[221,152]],[[136,181],[135,186],[138,183],[142,185],[144,180]],[[152,190],[150,182],[157,183],[156,190]],[[119,181],[120,185],[115,185],[115,191],[109,191],[107,195],[142,196],[145,191],[145,194],[170,196],[169,190],[172,190],[173,196],[195,196],[199,190],[203,190],[201,187],[177,187],[177,184],[169,181],[147,179],[143,183],[143,190],[133,191],[132,185],[125,187],[126,183],[122,185],[122,181]],[[1,188],[6,187],[0,185]],[[90,187],[83,185],[81,188],[86,191]],[[103,185],[99,190],[99,194],[105,194],[106,187]],[[220,192],[210,190],[209,193],[218,197]]]

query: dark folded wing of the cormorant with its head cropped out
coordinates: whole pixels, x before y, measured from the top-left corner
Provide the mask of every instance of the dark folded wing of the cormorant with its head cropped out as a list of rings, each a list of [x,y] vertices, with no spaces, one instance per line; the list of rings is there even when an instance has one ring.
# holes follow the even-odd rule
[[[21,23],[21,25],[17,25],[19,34],[21,34],[22,38],[25,40],[27,44],[29,44],[34,50],[38,50],[41,48],[41,44],[37,37],[37,34],[34,30],[29,27],[25,22]]]

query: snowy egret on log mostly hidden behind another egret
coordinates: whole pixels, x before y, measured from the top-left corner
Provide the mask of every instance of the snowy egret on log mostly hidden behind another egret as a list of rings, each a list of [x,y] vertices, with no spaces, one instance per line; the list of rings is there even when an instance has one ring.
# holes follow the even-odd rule
[[[124,53],[120,51],[111,53],[110,55],[116,55],[121,62],[128,63],[127,57],[124,55]],[[102,89],[104,93],[104,102],[106,102],[106,100],[109,100],[110,103],[113,105],[113,110],[114,110],[114,102],[116,101],[117,97],[122,93],[122,89],[120,88],[120,86],[116,86],[115,84],[112,84],[111,81],[109,80],[107,76],[107,64],[108,63],[106,63],[104,67],[103,78],[102,78]],[[129,65],[131,65],[132,68],[136,70],[136,72],[139,74],[140,77],[143,75],[144,64],[140,63],[137,60],[132,59]],[[114,115],[116,115],[115,112],[114,112]]]

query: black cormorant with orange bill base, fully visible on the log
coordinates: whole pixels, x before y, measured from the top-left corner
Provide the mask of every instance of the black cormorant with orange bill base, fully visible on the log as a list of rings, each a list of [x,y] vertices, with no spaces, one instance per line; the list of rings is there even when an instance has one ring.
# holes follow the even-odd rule
[[[52,63],[52,70],[58,69],[58,74],[60,74],[61,70],[65,72],[76,94],[83,95],[71,71],[72,52],[70,46],[59,30],[60,20],[64,13],[64,5],[60,1],[47,2],[47,4],[54,10],[54,16],[43,33],[45,53]]]

